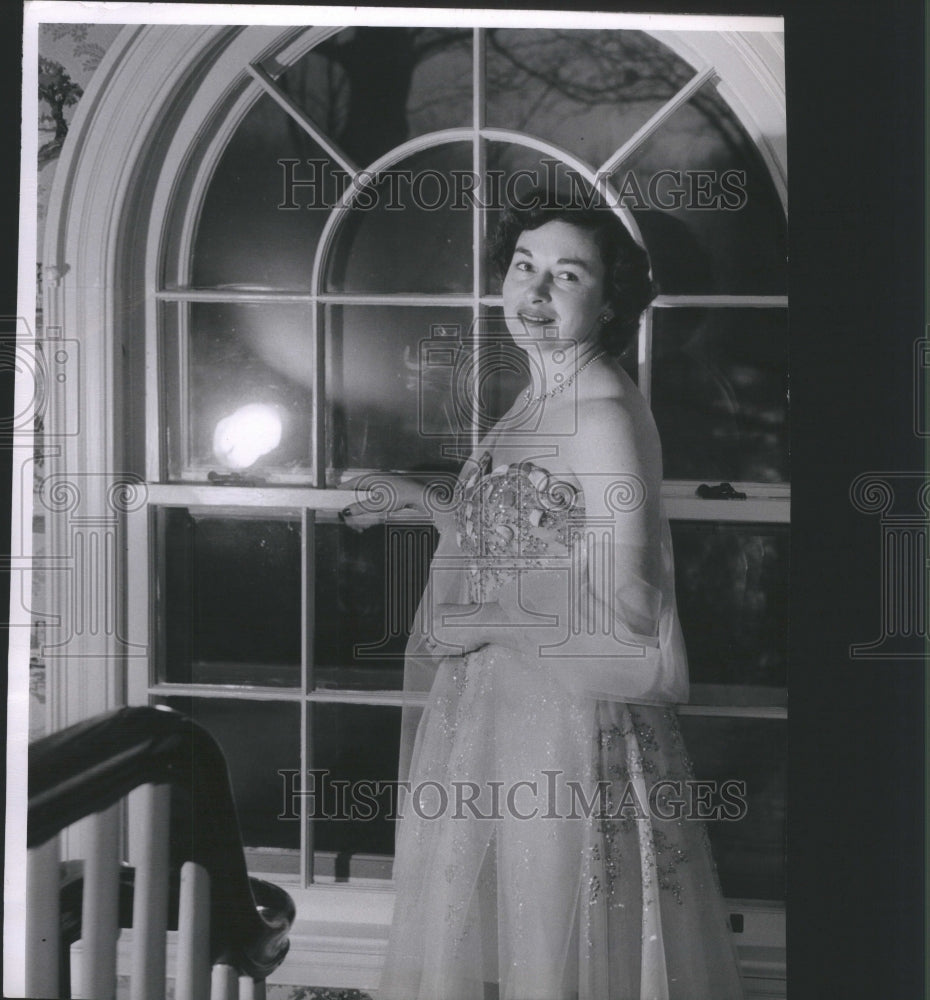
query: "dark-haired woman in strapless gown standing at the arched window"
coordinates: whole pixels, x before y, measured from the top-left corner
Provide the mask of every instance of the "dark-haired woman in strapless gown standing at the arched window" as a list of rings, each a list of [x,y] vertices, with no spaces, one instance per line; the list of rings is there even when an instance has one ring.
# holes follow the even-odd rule
[[[405,709],[377,996],[729,1000],[735,952],[669,707],[688,678],[661,450],[615,360],[648,261],[609,210],[530,200],[492,256],[531,384],[434,511],[408,645],[405,690],[428,698],[415,737]],[[437,506],[387,485],[394,506]]]

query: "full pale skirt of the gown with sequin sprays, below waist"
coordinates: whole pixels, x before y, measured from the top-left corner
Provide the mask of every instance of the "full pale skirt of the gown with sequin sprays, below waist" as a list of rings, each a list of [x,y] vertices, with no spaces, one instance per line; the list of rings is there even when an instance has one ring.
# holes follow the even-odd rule
[[[498,646],[442,661],[402,800],[378,1000],[733,1000],[671,708]]]

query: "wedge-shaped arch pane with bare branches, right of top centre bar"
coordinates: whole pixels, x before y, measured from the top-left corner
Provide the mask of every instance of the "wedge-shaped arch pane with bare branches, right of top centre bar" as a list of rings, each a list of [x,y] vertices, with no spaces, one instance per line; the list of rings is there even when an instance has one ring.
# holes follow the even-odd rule
[[[600,166],[695,71],[641,31],[487,32],[487,123]]]

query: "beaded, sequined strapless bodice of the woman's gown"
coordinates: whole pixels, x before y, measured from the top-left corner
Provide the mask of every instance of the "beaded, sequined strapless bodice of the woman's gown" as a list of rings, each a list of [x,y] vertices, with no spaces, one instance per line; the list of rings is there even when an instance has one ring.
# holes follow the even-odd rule
[[[482,603],[520,570],[566,556],[584,500],[565,479],[532,462],[491,468],[485,452],[458,486],[456,542],[469,557],[470,599]]]

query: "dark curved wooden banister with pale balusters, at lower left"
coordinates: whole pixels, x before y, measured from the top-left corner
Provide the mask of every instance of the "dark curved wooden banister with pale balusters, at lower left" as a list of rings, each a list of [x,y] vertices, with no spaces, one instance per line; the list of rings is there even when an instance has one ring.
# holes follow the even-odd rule
[[[143,795],[143,809],[154,832],[147,844],[140,845],[144,859],[140,870],[122,866],[117,871],[115,823],[106,823],[104,815],[139,786],[151,786]],[[172,835],[166,837],[169,796]],[[135,980],[149,984],[147,992],[133,996],[159,995],[151,987],[152,977],[156,982],[159,978],[155,970],[164,968],[163,928],[177,928],[179,920],[183,926],[188,919],[185,893],[209,899],[209,934],[195,930],[194,937],[204,938],[198,943],[210,964],[229,966],[236,976],[259,983],[280,965],[289,946],[293,901],[278,886],[249,877],[226,761],[205,729],[170,709],[133,707],[108,712],[33,743],[29,748],[30,857],[44,859],[46,867],[52,858],[57,868],[57,834],[91,815],[99,829],[91,838],[91,854],[83,866],[74,862],[62,866],[66,877],[61,883],[59,937],[65,953],[79,937],[84,938],[85,950],[88,944],[92,947],[98,969],[93,975],[103,976],[103,989],[109,990],[114,971],[108,967],[110,960],[100,956],[107,941],[115,941],[114,925],[116,933],[119,926],[133,926],[134,942],[136,938],[144,942],[162,938],[154,954],[133,955]],[[170,852],[165,850],[166,840],[170,840]],[[37,861],[37,892],[47,894],[50,876],[40,867]],[[172,877],[162,880],[159,872],[168,867]],[[96,875],[91,878],[97,870],[102,880]],[[194,919],[201,920],[202,915]],[[67,976],[65,968],[62,975]],[[202,983],[192,988],[198,991],[197,1000],[208,995],[202,992]]]

